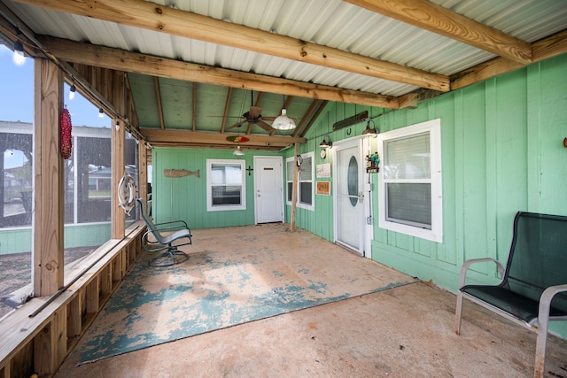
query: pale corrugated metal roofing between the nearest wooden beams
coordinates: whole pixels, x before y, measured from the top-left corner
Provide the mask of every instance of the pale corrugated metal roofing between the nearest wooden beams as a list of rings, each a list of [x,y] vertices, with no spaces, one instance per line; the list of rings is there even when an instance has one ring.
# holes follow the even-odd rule
[[[171,4],[167,0],[157,3]],[[563,2],[554,0],[508,0],[496,3],[438,0],[436,3],[526,41],[538,40],[549,35],[550,31],[559,31],[567,25],[567,7]],[[175,1],[173,4],[182,10],[276,31],[294,38],[435,73],[457,73],[493,58],[492,54],[461,42],[338,0]],[[361,88],[360,84],[338,80],[338,73],[333,73],[329,68],[27,5],[13,6],[29,15],[26,22],[40,34],[76,41],[85,40],[94,44],[181,58],[238,71],[252,70],[298,81],[314,81],[316,78],[317,82],[323,85],[336,85],[341,82],[347,89]],[[522,22],[518,22],[519,20]],[[400,96],[404,91],[413,89],[409,85],[392,85],[374,78],[367,78],[366,81],[364,88],[381,88],[380,93],[392,96]]]

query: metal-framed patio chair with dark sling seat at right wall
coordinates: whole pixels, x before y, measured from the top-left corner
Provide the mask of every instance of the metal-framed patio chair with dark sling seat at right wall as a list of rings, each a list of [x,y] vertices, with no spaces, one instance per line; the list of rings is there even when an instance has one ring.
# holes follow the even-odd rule
[[[465,285],[470,265],[493,262],[501,282]],[[537,332],[534,376],[543,377],[548,322],[567,320],[567,217],[517,212],[506,267],[493,258],[475,258],[461,268],[455,332],[461,333],[462,298]]]

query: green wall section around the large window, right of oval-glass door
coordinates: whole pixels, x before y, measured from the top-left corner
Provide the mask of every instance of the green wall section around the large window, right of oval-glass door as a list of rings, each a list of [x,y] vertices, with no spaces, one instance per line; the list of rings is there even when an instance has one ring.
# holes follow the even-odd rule
[[[420,104],[430,110],[423,120],[442,120],[444,242],[428,257],[429,242],[411,251],[375,228],[373,256],[454,291],[465,259],[508,258],[518,210],[567,215],[566,86],[563,55]],[[407,112],[408,124],[423,121],[422,112]],[[382,131],[401,119],[384,117]],[[495,268],[477,273],[490,280]]]

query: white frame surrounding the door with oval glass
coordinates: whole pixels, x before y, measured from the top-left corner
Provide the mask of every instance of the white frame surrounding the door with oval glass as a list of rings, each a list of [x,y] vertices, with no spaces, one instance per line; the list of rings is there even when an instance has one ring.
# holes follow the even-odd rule
[[[367,142],[369,140],[369,142]],[[373,227],[373,217],[371,216],[371,207],[372,207],[372,185],[369,183],[368,180],[365,181],[365,178],[369,178],[368,174],[366,173],[366,160],[364,159],[365,156],[369,154],[371,150],[371,143],[372,140],[368,137],[360,136],[353,136],[352,138],[343,139],[341,141],[333,142],[332,147],[332,158],[333,158],[333,241],[334,243],[338,243],[340,245],[345,245],[344,243],[340,243],[338,241],[338,204],[337,204],[337,178],[338,178],[338,165],[337,165],[337,151],[343,150],[347,148],[357,147],[359,151],[359,187],[363,193],[363,201],[362,201],[362,217],[360,220],[360,229],[361,229],[361,236],[359,238],[359,251],[356,251],[361,254],[361,256],[365,258],[372,258],[372,249],[371,249],[371,241],[372,237],[374,236],[374,227]],[[367,220],[371,220],[370,224]],[[346,248],[352,250],[351,247],[345,245]],[[355,250],[353,250],[355,251]]]

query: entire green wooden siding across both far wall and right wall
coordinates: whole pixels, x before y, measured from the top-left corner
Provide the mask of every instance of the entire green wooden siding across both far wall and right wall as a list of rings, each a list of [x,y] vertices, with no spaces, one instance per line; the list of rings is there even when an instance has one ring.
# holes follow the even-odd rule
[[[381,132],[441,119],[443,243],[379,228],[377,176],[372,175],[375,222],[371,244],[377,261],[454,291],[465,259],[506,260],[518,210],[567,214],[565,88],[567,55],[435,97],[413,110],[384,112],[330,103],[309,129],[308,142],[300,146],[299,153],[315,152],[315,166],[334,164],[332,153],[324,160],[319,157],[319,143],[323,136],[337,142],[361,135],[365,122],[337,131],[332,131],[332,125],[362,111],[368,111],[370,117],[384,112],[375,119]],[[247,174],[245,211],[206,212],[206,158],[234,158],[231,150],[155,149],[153,154],[158,221],[185,219],[193,228],[253,224],[253,176]],[[253,154],[246,152],[246,166],[253,165]],[[276,155],[289,158],[293,149]],[[167,179],[164,168],[199,169],[201,178]],[[285,165],[283,171],[285,175]],[[316,181],[330,181],[332,188],[333,180],[315,177],[315,185]],[[315,195],[315,211],[298,208],[297,226],[333,241],[332,194],[331,189],[330,197]],[[284,207],[284,219],[289,222],[291,206]],[[483,281],[495,274],[493,266],[479,266],[472,277]]]

